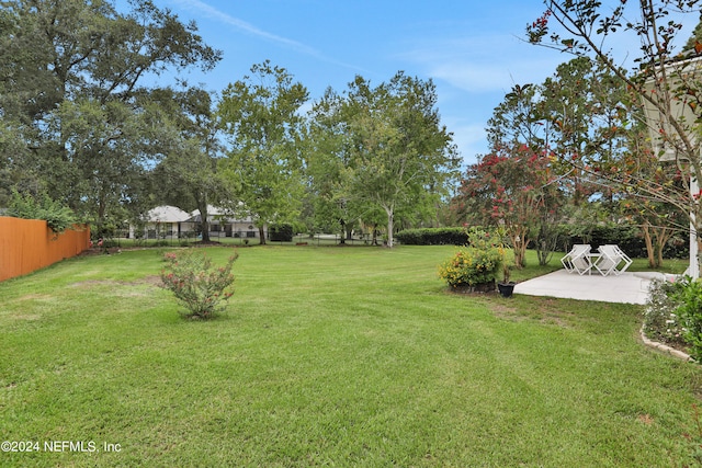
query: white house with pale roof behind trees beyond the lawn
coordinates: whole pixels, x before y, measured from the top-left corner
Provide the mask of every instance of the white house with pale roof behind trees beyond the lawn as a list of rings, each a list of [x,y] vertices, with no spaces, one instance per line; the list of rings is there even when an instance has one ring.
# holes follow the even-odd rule
[[[258,239],[259,229],[251,217],[236,218],[227,215],[222,208],[207,206],[210,221],[210,238],[233,237],[242,239]],[[188,238],[195,237],[200,230],[202,216],[200,210],[186,213],[177,206],[163,205],[150,209],[143,218],[143,231],[129,225],[129,238],[141,239]]]

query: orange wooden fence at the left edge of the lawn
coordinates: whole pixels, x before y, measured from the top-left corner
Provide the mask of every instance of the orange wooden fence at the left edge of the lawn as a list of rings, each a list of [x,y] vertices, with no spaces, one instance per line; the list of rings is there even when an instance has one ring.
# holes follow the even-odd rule
[[[90,248],[90,228],[56,235],[39,219],[0,216],[0,281],[25,275]]]

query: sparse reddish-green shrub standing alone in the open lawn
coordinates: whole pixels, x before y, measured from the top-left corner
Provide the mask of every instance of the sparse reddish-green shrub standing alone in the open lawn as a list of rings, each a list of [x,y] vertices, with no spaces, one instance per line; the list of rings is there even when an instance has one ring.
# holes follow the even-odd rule
[[[207,319],[224,308],[223,301],[234,294],[231,267],[238,254],[231,255],[225,266],[213,267],[205,252],[186,250],[167,253],[167,266],[161,271],[163,287],[188,309],[188,318]]]

